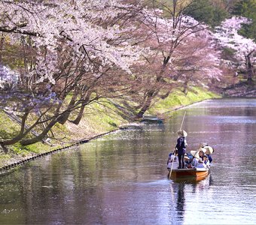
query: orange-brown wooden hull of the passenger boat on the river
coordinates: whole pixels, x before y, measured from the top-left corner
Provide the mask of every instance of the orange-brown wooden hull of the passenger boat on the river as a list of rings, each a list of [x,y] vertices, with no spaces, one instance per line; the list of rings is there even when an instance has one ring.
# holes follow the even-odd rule
[[[168,170],[170,172],[171,169]],[[206,178],[208,175],[208,168],[172,169],[171,179],[174,181],[200,181]]]

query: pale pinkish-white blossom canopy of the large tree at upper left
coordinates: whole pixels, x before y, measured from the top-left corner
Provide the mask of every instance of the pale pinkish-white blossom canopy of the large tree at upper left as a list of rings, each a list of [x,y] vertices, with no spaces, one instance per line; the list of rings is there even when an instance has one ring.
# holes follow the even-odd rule
[[[114,40],[126,31],[119,26],[101,26],[100,21],[109,20],[122,12],[124,6],[116,1],[4,1],[0,5],[2,19],[0,28],[9,30],[5,35],[13,43],[29,35],[38,50],[36,62],[28,77],[37,77],[36,83],[47,80],[55,83],[54,74],[59,73],[59,46],[62,40],[72,49],[72,57],[87,54],[97,59],[102,67],[115,65],[130,72],[130,65],[139,58],[142,49],[129,42],[117,46]],[[7,10],[8,9],[8,10]],[[92,70],[90,60],[84,68]]]

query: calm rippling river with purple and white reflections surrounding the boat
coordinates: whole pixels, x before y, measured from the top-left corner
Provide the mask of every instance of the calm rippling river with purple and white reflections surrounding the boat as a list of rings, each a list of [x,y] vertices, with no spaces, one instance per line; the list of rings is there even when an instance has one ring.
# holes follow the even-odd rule
[[[186,111],[187,151],[215,148],[203,181],[167,178]],[[204,101],[0,176],[0,224],[255,224],[256,99]]]

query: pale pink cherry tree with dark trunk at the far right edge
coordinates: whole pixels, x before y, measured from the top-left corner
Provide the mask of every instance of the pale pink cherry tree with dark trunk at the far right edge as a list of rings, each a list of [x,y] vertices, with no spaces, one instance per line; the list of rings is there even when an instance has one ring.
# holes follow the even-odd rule
[[[250,21],[245,17],[224,20],[221,26],[215,29],[215,38],[221,46],[235,51],[234,56],[238,62],[238,65],[235,65],[236,70],[245,71],[248,83],[252,83],[256,63],[256,43],[238,34],[243,23],[250,23]]]

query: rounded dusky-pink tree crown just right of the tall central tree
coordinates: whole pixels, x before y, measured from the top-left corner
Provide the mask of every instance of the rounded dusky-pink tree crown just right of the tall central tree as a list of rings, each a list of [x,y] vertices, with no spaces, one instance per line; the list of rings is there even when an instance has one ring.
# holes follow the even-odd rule
[[[215,41],[210,31],[197,33],[197,38],[189,37],[175,52],[174,80],[184,87],[187,95],[190,86],[206,88],[222,76],[221,54],[215,49]]]

